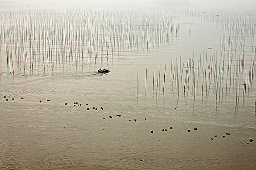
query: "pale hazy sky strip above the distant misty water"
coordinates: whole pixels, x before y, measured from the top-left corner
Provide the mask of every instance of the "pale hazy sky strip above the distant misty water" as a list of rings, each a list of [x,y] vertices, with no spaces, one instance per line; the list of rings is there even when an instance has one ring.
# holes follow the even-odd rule
[[[215,7],[215,8],[229,8],[229,7],[253,7],[256,8],[256,0],[0,0],[11,1],[14,3],[61,3],[61,4],[89,4],[94,3],[98,5],[129,5],[138,6],[143,4],[159,4],[159,5],[176,5],[176,6],[195,6]]]

